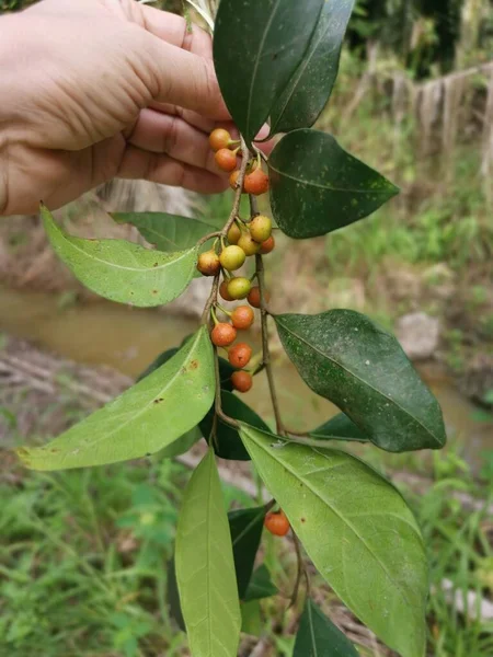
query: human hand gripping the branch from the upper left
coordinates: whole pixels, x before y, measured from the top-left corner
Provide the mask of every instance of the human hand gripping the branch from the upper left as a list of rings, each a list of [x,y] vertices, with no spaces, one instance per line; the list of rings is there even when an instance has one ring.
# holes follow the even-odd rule
[[[200,193],[231,130],[207,34],[134,0],[44,0],[0,19],[0,215],[57,208],[113,177]]]

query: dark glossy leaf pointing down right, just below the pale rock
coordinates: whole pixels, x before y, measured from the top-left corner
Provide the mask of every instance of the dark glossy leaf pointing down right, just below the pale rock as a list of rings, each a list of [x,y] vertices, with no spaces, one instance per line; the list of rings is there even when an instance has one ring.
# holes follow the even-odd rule
[[[305,382],[375,445],[392,452],[445,445],[440,406],[393,335],[353,310],[274,319]]]

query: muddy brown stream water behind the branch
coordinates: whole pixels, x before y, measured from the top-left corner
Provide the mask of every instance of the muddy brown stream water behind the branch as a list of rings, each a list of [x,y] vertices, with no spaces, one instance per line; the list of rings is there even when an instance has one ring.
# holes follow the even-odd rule
[[[152,359],[177,346],[195,331],[195,320],[156,310],[133,309],[106,301],[60,307],[60,297],[0,288],[0,332],[25,338],[39,347],[85,365],[108,365],[125,374],[138,376]],[[255,342],[249,336],[250,342]],[[314,428],[337,412],[330,402],[312,393],[287,361],[275,359],[279,403],[293,429]],[[474,464],[493,449],[493,424],[479,422],[477,408],[454,387],[444,372],[420,368],[438,397],[449,436],[463,443]],[[263,373],[244,396],[263,417],[272,416]]]

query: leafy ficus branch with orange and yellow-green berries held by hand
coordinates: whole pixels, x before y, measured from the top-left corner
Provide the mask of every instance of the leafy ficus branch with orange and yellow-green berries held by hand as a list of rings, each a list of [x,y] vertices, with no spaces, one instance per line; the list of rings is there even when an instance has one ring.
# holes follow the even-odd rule
[[[420,528],[393,485],[343,447],[442,448],[439,405],[387,331],[352,310],[274,314],[264,276],[275,247],[266,196],[257,209],[267,189],[276,230],[298,240],[348,227],[398,193],[332,135],[311,128],[336,78],[353,0],[221,0],[216,16],[205,0],[192,4],[214,31],[217,77],[239,129],[238,139],[221,128],[210,135],[218,166],[231,175],[229,217],[113,215],[134,224],[154,245],[148,249],[71,237],[46,207],[41,212],[59,257],[106,299],[162,306],[195,276],[209,276],[202,322],[121,396],[19,456],[27,468],[60,470],[156,452],[172,458],[207,441],[184,493],[170,569],[173,613],[193,657],[234,657],[242,614],[259,613],[259,600],[276,593],[259,564],[264,527],[288,534],[298,555],[291,602],[302,596],[305,608],[295,657],[357,654],[311,598],[300,545],[362,623],[402,657],[423,657],[427,563]],[[268,157],[255,141],[265,123],[271,137],[282,135]],[[261,354],[242,333],[255,321],[252,309],[260,309]],[[279,412],[268,322],[305,382],[341,411],[302,435]],[[273,426],[241,399],[262,370]],[[217,457],[251,460],[271,502],[227,514]]]

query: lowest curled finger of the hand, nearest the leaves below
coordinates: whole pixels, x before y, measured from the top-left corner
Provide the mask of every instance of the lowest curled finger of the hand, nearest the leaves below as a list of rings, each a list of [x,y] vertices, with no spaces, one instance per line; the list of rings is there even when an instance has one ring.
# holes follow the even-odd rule
[[[204,169],[179,162],[170,155],[151,153],[135,146],[127,147],[116,177],[146,180],[199,194],[218,194],[228,181]]]

